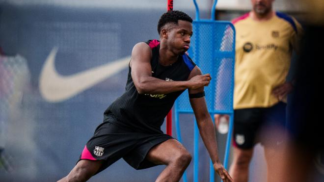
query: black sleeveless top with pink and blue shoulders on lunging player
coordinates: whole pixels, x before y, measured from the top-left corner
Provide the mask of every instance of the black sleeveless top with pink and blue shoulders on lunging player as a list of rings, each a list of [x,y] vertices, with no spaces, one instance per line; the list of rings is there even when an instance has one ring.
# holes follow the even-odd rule
[[[146,42],[152,49],[152,77],[166,81],[188,80],[195,63],[187,54],[180,55],[178,60],[170,66],[159,63],[160,42],[148,40]],[[129,66],[125,93],[117,98],[105,111],[105,118],[112,113],[118,120],[113,124],[129,128],[137,132],[162,133],[161,125],[164,118],[172,108],[177,97],[185,90],[169,94],[138,94],[131,76]]]

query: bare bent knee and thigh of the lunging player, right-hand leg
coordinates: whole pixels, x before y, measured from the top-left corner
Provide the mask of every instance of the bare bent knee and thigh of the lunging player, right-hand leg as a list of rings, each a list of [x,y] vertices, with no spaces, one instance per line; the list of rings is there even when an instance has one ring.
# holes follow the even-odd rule
[[[150,149],[145,159],[166,165],[156,182],[178,182],[191,161],[191,155],[180,142],[169,139]]]

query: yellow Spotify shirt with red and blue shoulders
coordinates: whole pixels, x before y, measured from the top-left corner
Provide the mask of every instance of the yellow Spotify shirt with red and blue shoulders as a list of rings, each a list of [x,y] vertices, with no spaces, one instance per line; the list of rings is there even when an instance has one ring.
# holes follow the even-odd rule
[[[234,109],[278,103],[272,90],[286,80],[300,24],[279,12],[267,21],[252,20],[247,13],[232,23],[236,29]]]

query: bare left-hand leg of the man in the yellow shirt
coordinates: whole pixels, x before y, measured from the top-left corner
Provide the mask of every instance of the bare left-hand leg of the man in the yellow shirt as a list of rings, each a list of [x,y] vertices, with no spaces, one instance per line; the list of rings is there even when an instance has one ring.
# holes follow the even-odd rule
[[[233,149],[233,162],[229,174],[233,178],[234,182],[247,182],[249,164],[253,156],[253,148],[243,150],[234,147]]]

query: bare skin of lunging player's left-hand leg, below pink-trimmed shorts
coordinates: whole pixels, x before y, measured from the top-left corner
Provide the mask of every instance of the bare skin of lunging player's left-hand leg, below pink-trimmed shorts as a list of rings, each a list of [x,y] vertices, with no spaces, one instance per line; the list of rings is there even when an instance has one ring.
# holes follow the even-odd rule
[[[85,182],[95,175],[103,160],[80,160],[71,172],[58,182]]]

